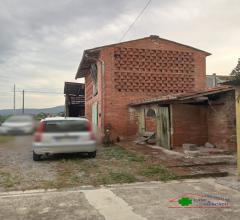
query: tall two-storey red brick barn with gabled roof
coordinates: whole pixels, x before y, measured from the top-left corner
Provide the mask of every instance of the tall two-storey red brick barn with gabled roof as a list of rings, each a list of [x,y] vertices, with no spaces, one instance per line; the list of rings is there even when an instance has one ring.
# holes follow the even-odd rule
[[[206,89],[210,53],[150,36],[85,50],[76,74],[85,78],[85,115],[101,135],[122,139],[139,131],[131,103]]]

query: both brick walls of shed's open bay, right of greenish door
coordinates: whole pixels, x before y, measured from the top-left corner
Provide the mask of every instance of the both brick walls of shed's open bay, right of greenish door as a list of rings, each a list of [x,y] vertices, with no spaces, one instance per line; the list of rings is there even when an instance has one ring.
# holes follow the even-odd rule
[[[183,143],[199,146],[206,142],[217,148],[236,151],[234,92],[218,95],[209,106],[172,105],[173,147]]]

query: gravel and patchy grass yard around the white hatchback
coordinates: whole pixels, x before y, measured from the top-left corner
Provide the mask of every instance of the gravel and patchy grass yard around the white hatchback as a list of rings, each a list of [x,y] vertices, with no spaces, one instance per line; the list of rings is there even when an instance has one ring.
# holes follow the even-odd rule
[[[99,146],[95,159],[70,154],[34,162],[31,145],[31,136],[8,138],[0,143],[0,191],[176,178],[160,162],[119,146]]]

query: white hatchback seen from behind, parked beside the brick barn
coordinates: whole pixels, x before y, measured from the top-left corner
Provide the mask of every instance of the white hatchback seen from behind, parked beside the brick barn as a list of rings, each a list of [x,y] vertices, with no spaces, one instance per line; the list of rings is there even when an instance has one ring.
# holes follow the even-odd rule
[[[53,117],[41,120],[34,136],[33,160],[41,155],[88,153],[96,157],[97,139],[85,118]]]

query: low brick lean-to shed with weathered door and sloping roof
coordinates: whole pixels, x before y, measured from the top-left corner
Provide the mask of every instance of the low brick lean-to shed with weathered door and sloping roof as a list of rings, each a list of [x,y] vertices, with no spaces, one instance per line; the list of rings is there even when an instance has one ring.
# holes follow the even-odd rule
[[[236,151],[235,91],[220,86],[138,100],[130,104],[137,112],[139,134],[154,132],[158,145],[177,149],[185,143]]]

